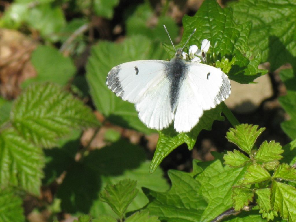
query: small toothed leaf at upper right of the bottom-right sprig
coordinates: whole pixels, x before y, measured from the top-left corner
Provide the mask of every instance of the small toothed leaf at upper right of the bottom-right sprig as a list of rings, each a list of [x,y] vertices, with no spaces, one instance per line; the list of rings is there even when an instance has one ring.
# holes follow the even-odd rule
[[[254,159],[265,163],[274,160],[280,160],[283,158],[281,156],[283,152],[284,150],[282,149],[281,145],[276,143],[274,140],[270,141],[269,143],[264,141],[256,152]]]

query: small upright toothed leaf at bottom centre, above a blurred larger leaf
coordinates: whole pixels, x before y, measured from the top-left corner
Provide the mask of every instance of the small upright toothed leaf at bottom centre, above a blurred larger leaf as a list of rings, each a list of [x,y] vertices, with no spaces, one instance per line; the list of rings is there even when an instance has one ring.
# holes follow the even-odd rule
[[[104,191],[101,192],[100,200],[106,202],[119,218],[123,218],[128,205],[131,204],[139,192],[136,185],[137,181],[129,179],[119,181],[113,186],[108,184],[105,186]]]

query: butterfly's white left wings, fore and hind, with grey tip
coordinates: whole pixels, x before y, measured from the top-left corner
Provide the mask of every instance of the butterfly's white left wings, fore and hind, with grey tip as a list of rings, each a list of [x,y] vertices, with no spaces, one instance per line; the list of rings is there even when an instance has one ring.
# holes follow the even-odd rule
[[[170,125],[170,83],[164,73],[168,61],[140,60],[118,65],[107,76],[107,86],[117,96],[135,104],[140,120],[161,130]]]

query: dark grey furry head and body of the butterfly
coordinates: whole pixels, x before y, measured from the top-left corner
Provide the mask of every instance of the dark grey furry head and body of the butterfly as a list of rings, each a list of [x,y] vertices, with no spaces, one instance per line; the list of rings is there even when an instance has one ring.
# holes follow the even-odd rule
[[[176,110],[180,87],[186,77],[186,73],[188,73],[188,66],[181,56],[182,50],[179,49],[175,57],[165,67],[166,77],[170,82],[169,97],[172,113]]]

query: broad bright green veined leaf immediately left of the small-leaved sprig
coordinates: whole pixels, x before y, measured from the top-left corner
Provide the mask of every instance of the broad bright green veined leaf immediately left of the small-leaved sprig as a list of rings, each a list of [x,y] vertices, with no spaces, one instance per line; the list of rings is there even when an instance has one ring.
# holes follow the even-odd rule
[[[196,180],[201,183],[200,193],[208,203],[200,222],[214,219],[232,207],[231,189],[244,174],[245,168],[223,166],[222,161],[220,155],[212,163],[198,163],[200,167],[205,165],[204,171],[196,176]]]

